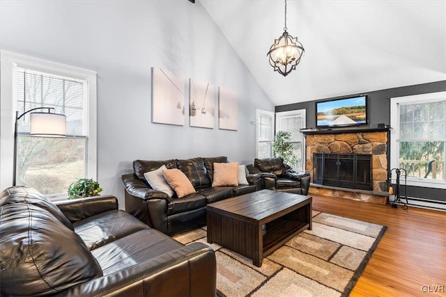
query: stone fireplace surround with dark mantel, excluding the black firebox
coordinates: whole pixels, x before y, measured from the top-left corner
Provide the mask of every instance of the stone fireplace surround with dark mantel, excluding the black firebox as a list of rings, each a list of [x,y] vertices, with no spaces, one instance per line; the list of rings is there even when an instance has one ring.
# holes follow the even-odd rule
[[[311,184],[309,193],[377,204],[388,202],[388,129],[337,129],[303,131],[306,138],[305,170],[313,179],[313,153],[372,154],[373,191]]]

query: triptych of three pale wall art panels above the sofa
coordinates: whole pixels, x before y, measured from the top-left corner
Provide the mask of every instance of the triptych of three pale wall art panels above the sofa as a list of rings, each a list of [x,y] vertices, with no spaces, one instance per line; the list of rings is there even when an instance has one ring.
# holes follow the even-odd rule
[[[215,127],[215,86],[189,79],[189,125],[213,129]],[[152,68],[152,122],[184,125],[185,81],[178,75],[160,68]],[[218,88],[218,127],[238,129],[238,94],[234,90]]]

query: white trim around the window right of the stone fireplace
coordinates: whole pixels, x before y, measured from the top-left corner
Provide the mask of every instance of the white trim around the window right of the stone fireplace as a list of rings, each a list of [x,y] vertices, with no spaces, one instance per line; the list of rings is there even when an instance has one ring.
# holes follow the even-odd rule
[[[427,93],[422,95],[410,95],[404,97],[390,98],[390,168],[399,168],[399,112],[398,105],[404,103],[424,102],[425,100],[445,99],[446,92]],[[446,147],[445,147],[446,149]],[[446,156],[446,155],[445,155]],[[403,178],[403,177],[401,177]],[[392,175],[392,183],[396,180]],[[400,179],[400,183],[403,182]],[[424,186],[428,188],[446,188],[446,180],[424,179],[417,177],[407,177],[408,186]]]

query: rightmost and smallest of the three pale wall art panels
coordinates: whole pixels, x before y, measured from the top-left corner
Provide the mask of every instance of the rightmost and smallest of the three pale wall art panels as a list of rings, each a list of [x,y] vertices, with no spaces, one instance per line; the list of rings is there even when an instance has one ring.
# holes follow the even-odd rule
[[[238,94],[234,90],[218,88],[218,127],[238,129]]]

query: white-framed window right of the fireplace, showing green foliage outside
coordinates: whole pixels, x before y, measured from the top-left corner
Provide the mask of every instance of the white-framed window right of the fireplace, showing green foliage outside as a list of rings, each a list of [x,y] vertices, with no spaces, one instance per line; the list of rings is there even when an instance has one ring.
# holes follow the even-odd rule
[[[391,165],[408,184],[446,188],[446,92],[391,99]]]

